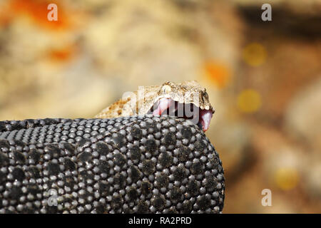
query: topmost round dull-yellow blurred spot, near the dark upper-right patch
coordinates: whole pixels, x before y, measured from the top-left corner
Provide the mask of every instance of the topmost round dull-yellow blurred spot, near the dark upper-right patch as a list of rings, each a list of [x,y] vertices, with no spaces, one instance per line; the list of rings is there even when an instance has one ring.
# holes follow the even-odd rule
[[[243,49],[243,60],[250,66],[260,66],[265,62],[267,52],[260,43],[250,43]]]

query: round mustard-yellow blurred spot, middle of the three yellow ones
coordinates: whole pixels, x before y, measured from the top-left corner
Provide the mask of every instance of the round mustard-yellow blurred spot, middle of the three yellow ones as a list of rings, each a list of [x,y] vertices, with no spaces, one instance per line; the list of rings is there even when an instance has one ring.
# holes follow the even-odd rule
[[[238,108],[244,113],[254,113],[261,105],[260,94],[255,90],[243,90],[238,95]]]

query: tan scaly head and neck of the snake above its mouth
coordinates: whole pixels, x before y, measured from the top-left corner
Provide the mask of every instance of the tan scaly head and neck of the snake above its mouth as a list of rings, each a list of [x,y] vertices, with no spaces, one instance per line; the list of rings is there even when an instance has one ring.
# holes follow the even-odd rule
[[[145,115],[161,98],[171,98],[178,103],[193,103],[198,108],[211,110],[213,107],[208,99],[206,89],[196,81],[171,83],[161,86],[141,86],[138,91],[126,93],[123,98],[109,105],[96,115],[96,118],[117,118],[121,116]]]

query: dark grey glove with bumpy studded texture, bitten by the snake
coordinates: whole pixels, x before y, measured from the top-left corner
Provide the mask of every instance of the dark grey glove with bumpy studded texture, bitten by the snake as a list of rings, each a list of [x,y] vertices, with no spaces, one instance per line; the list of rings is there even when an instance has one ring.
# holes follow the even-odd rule
[[[223,167],[168,116],[0,122],[0,213],[218,213]]]

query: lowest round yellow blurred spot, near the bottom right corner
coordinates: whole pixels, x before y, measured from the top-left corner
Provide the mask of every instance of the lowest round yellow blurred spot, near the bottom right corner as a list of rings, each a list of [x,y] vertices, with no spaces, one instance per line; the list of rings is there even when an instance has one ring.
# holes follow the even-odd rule
[[[297,170],[293,167],[282,167],[275,172],[275,182],[282,190],[292,190],[299,182]]]

